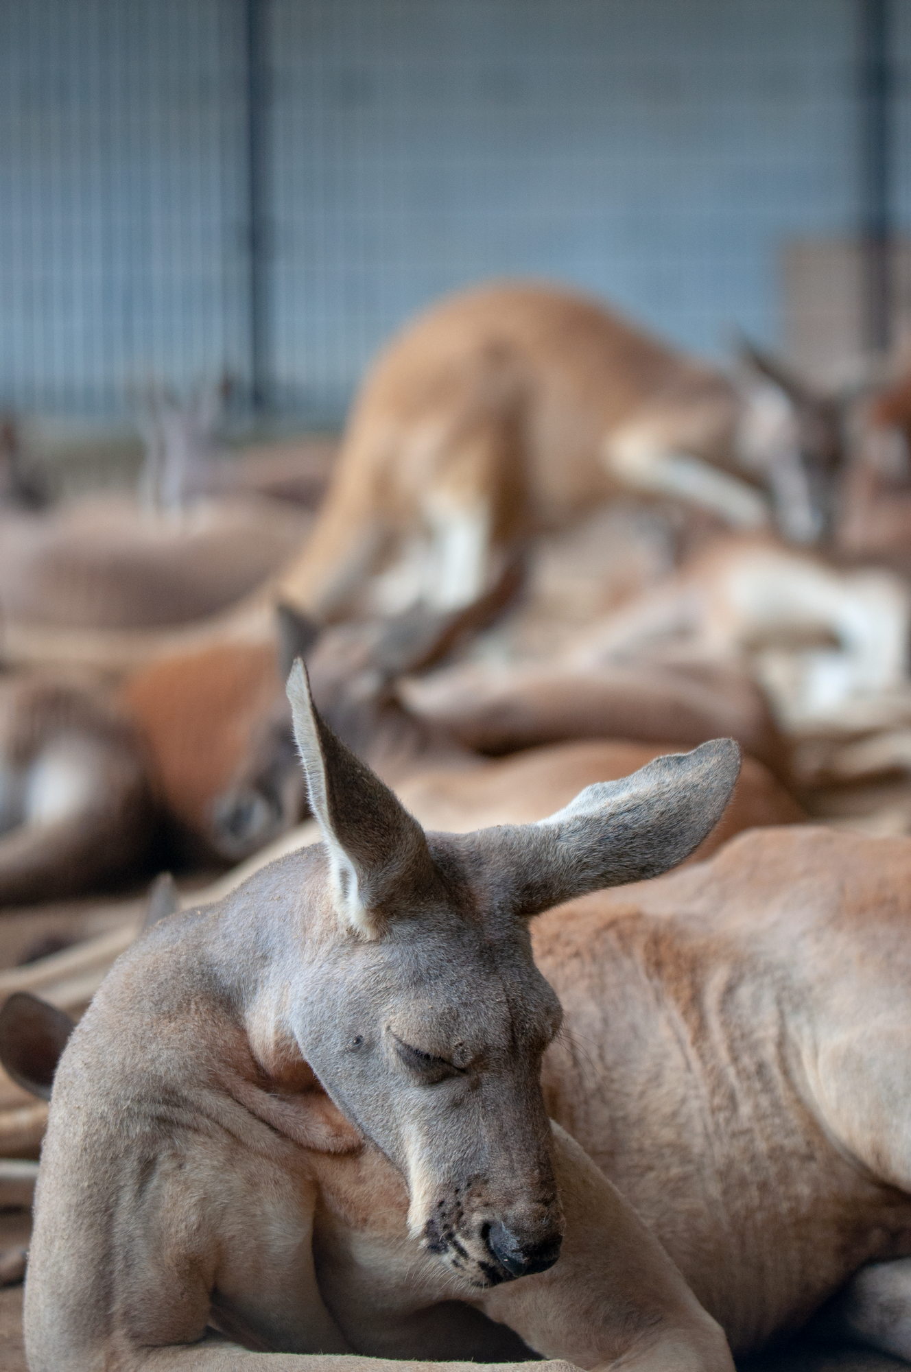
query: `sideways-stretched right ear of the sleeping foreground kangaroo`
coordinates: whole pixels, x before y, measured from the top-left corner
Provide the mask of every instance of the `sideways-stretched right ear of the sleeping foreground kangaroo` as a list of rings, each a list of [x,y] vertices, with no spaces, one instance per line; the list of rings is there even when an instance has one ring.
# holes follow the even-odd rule
[[[740,772],[733,738],[656,757],[631,777],[597,782],[536,825],[466,836],[493,903],[538,915],[604,886],[657,877],[698,848]]]

